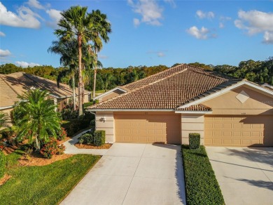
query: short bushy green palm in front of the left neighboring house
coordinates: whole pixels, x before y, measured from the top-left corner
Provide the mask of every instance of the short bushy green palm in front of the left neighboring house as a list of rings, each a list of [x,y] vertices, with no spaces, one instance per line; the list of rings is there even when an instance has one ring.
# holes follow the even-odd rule
[[[18,128],[18,140],[28,138],[41,149],[41,141],[48,142],[51,136],[57,138],[60,130],[60,118],[55,112],[56,106],[48,99],[48,92],[39,89],[19,95],[20,102],[14,109],[14,121]]]

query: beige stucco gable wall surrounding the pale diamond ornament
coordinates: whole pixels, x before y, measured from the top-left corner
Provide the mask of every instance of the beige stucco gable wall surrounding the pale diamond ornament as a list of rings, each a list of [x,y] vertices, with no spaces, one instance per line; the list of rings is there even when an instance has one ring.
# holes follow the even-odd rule
[[[249,95],[248,100],[243,103],[236,98],[241,91]],[[221,96],[202,102],[202,104],[212,108],[211,114],[273,114],[273,98],[249,86],[235,88]]]

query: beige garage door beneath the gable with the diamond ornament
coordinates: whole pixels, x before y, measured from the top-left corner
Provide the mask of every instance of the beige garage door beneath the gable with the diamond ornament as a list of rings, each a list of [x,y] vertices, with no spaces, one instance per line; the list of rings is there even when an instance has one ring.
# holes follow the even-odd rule
[[[273,116],[205,117],[205,145],[273,146]]]

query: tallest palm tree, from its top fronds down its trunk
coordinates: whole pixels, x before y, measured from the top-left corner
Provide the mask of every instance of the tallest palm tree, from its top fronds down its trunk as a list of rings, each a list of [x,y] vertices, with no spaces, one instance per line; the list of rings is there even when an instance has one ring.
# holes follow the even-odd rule
[[[82,47],[92,39],[92,29],[94,27],[91,16],[87,13],[87,7],[71,6],[61,13],[59,20],[60,29],[55,30],[55,34],[61,41],[77,39],[78,42],[78,107],[79,115],[83,114],[84,84],[82,77]]]

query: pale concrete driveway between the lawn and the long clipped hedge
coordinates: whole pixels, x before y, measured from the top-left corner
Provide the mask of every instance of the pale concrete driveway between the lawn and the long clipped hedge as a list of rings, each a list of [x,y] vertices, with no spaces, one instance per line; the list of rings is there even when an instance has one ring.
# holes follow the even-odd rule
[[[180,145],[115,143],[62,204],[186,204]]]

